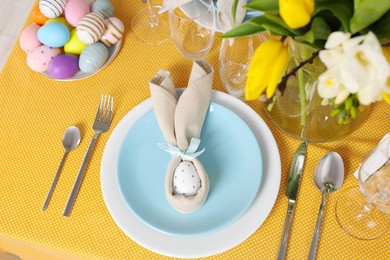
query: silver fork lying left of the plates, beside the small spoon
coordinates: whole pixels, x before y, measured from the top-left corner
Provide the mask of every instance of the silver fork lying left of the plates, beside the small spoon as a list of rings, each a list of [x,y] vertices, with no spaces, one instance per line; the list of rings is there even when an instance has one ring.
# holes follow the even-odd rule
[[[88,160],[91,157],[93,145],[98,138],[98,136],[102,133],[107,132],[108,128],[111,124],[112,119],[112,107],[114,105],[114,98],[110,95],[102,95],[100,99],[100,103],[98,106],[98,110],[96,112],[95,121],[93,123],[93,130],[95,131],[95,135],[92,137],[91,142],[89,143],[87,153],[85,154],[83,163],[77,174],[77,178],[75,183],[73,184],[72,192],[69,195],[68,201],[66,202],[66,206],[63,216],[69,217],[70,212],[72,211],[73,205],[75,203],[77,194],[79,193],[81,183],[84,178],[85,169],[87,168]]]

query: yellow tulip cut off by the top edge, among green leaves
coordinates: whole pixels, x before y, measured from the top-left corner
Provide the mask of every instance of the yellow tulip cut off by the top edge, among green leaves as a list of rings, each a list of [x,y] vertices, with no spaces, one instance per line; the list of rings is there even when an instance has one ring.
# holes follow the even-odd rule
[[[314,12],[314,0],[279,0],[279,13],[292,29],[307,25]]]

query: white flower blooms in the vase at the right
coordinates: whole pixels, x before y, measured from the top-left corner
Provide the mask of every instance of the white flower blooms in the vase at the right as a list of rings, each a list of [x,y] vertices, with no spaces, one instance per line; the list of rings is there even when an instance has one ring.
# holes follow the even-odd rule
[[[336,103],[342,103],[350,93],[357,93],[363,105],[381,99],[390,65],[372,32],[354,38],[348,33],[334,32],[325,48],[319,55],[327,67],[318,78],[321,97],[336,98]]]

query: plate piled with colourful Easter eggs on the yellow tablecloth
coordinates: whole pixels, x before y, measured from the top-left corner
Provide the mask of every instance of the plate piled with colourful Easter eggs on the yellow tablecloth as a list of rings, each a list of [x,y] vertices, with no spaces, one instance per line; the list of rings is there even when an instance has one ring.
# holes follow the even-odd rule
[[[110,0],[40,0],[19,38],[27,65],[56,80],[89,77],[119,52],[124,25]]]

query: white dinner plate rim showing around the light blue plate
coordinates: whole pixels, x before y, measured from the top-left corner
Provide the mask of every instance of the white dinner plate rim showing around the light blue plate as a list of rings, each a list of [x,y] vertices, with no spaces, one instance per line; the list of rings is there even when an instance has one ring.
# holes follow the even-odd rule
[[[106,206],[120,229],[141,246],[172,257],[206,257],[226,251],[247,239],[264,222],[276,201],[281,179],[281,164],[275,139],[259,115],[242,101],[213,91],[211,100],[240,116],[253,131],[262,154],[261,187],[252,205],[231,225],[200,237],[165,234],[144,224],[127,207],[117,182],[117,159],[129,128],[152,109],[150,99],[131,110],[116,126],[104,150],[101,186]]]

